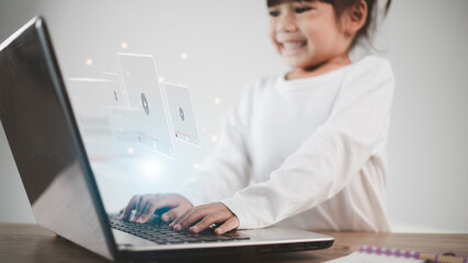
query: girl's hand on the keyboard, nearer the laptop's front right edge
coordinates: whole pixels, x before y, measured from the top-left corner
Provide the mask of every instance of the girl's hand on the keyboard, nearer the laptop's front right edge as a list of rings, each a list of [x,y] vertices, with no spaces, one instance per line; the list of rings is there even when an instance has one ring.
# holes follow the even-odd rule
[[[179,231],[196,221],[198,222],[190,228],[190,231],[193,233],[198,233],[215,222],[222,222],[221,226],[215,229],[217,235],[222,235],[239,227],[237,216],[221,203],[212,203],[190,208],[172,221],[169,227]]]

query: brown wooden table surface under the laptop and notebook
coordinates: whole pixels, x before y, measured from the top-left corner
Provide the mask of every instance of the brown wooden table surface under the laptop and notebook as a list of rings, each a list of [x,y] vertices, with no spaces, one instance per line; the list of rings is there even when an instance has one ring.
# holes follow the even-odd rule
[[[322,232],[335,238],[330,249],[261,255],[242,262],[323,262],[347,255],[359,245],[378,245],[419,252],[468,256],[467,233]],[[226,262],[205,259],[201,262]],[[0,224],[0,262],[109,262],[35,225]],[[184,262],[184,261],[181,261]],[[187,262],[185,260],[185,262]],[[194,261],[190,261],[194,262]]]

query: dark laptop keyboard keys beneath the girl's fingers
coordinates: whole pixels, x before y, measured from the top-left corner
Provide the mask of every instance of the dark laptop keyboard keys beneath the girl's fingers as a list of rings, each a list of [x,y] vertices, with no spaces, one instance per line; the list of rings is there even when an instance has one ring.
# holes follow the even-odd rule
[[[208,228],[199,233],[192,233],[186,229],[175,231],[169,227],[169,224],[162,221],[159,217],[152,217],[146,224],[122,220],[121,215],[109,215],[109,219],[112,228],[147,239],[158,244],[224,242],[250,239],[248,236],[241,235],[238,231],[230,231],[218,236],[215,233],[214,228]]]

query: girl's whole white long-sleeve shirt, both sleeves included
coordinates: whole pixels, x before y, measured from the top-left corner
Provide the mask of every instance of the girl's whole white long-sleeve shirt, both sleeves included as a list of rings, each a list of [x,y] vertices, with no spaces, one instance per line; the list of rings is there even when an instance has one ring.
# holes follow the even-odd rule
[[[184,195],[194,205],[224,203],[240,229],[389,231],[393,89],[389,61],[375,56],[318,77],[251,82]]]

